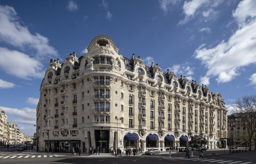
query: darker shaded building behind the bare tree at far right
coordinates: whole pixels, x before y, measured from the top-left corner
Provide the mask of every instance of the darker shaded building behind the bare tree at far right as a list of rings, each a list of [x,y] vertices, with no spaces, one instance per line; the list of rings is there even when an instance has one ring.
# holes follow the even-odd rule
[[[245,143],[249,141],[249,136],[246,121],[239,115],[239,113],[233,113],[228,116],[228,138],[231,139],[231,145],[245,146]],[[235,127],[230,127],[230,124]],[[254,143],[253,140],[252,143]]]

